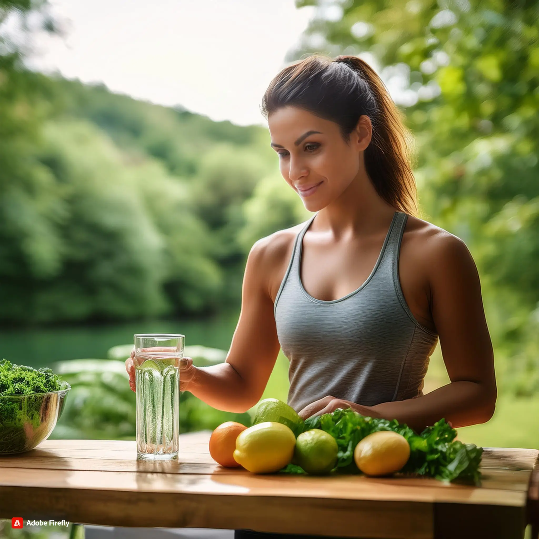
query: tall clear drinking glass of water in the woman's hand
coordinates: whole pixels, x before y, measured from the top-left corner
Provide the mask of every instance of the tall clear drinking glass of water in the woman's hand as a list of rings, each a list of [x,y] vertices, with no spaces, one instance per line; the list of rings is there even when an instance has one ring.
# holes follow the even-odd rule
[[[137,458],[172,460],[179,450],[179,362],[185,335],[135,335]]]

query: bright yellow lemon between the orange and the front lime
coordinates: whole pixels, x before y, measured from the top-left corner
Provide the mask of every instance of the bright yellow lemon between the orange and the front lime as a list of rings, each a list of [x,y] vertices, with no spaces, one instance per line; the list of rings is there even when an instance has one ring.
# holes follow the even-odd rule
[[[265,421],[238,434],[234,460],[253,473],[277,472],[292,462],[296,437],[282,423]]]

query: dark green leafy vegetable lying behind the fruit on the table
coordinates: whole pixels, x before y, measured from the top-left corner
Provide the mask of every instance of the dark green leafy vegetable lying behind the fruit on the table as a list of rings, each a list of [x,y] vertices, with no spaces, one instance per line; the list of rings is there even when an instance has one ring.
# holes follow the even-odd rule
[[[396,419],[379,419],[362,416],[351,408],[337,409],[332,413],[309,417],[304,431],[321,429],[335,438],[338,446],[337,466],[334,471],[361,473],[354,461],[354,450],[360,441],[376,431],[393,431],[401,434],[410,444],[410,458],[400,470],[436,478],[441,481],[463,481],[480,484],[482,447],[453,441],[457,431],[445,419],[417,434]],[[299,468],[299,469],[298,469]],[[296,465],[288,465],[282,473],[305,473]]]

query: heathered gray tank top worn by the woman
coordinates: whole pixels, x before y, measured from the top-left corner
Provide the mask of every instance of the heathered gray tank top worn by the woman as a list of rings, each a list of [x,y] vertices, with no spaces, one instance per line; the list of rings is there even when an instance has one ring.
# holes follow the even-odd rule
[[[328,395],[364,406],[423,395],[438,335],[422,326],[400,288],[400,242],[408,218],[396,211],[367,280],[343,298],[324,301],[303,288],[303,236],[296,236],[273,312],[290,361],[288,404],[297,412]]]

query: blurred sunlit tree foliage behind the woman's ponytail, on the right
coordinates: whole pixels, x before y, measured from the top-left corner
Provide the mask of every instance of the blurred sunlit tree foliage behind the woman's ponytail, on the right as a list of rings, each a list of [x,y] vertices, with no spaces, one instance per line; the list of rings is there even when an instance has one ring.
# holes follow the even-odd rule
[[[296,0],[307,5],[287,61],[366,55],[398,90],[423,215],[474,255],[497,355],[511,358],[502,385],[539,391],[539,3]]]

